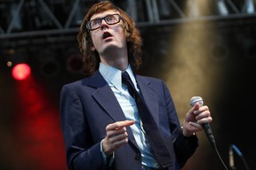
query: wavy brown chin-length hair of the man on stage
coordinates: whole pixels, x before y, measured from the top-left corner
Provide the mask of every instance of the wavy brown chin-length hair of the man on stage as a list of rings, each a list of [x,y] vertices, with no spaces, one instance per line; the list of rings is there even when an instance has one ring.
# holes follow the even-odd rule
[[[93,46],[92,37],[90,31],[86,28],[86,23],[92,18],[92,15],[108,10],[120,12],[124,23],[124,35],[127,40],[129,63],[134,71],[140,68],[142,62],[142,39],[139,29],[135,26],[134,20],[121,8],[110,1],[102,1],[93,4],[92,8],[86,13],[77,35],[79,50],[83,54],[85,74],[92,75],[92,73],[99,69],[100,65],[99,53],[96,50],[91,50],[91,47]]]

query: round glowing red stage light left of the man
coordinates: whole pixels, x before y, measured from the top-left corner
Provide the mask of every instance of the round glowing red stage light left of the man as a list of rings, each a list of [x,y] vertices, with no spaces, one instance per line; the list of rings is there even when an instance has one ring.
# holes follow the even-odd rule
[[[30,71],[30,67],[27,64],[18,64],[12,68],[12,76],[14,79],[22,81],[28,78]]]

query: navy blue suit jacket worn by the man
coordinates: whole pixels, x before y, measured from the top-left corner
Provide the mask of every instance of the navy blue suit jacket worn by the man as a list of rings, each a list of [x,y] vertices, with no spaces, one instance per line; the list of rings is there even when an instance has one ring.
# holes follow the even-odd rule
[[[135,76],[172,155],[172,165],[166,169],[180,169],[196,151],[197,138],[186,139],[181,135],[180,121],[164,81]],[[63,86],[60,92],[60,117],[68,169],[105,169],[100,141],[106,136],[107,125],[125,120],[125,116],[99,71],[89,78]],[[127,133],[129,142],[115,151],[113,170],[141,170],[140,151],[131,128],[127,127]]]

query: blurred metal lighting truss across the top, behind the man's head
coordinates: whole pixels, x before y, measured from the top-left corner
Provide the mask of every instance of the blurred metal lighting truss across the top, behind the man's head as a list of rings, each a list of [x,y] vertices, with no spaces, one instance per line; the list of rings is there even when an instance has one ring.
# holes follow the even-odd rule
[[[23,32],[23,36],[30,35],[28,32],[36,31],[34,35],[52,35],[72,33],[74,27],[81,23],[84,13],[89,6],[98,1],[93,0],[20,0],[20,1],[1,1],[0,2],[0,38],[11,37],[17,30]],[[166,19],[184,19],[202,16],[200,10],[204,1],[198,0],[126,0],[114,1],[120,4],[132,18],[145,25],[145,23],[161,23]],[[253,14],[255,13],[255,3],[253,0],[215,0],[211,2],[215,5],[209,5],[209,11],[217,8],[218,16],[231,16],[233,14]],[[185,12],[184,4],[188,4]],[[208,8],[208,7],[207,7]],[[212,8],[212,9],[211,9]],[[6,14],[8,13],[8,15]],[[175,16],[172,16],[175,15]],[[215,15],[212,13],[212,15]],[[146,17],[144,17],[146,16]],[[172,21],[172,20],[169,20]],[[42,29],[48,29],[47,32],[41,32]],[[57,33],[53,30],[59,30]],[[50,31],[51,30],[51,31]],[[61,32],[60,32],[61,31]],[[77,32],[77,29],[76,29]],[[18,36],[19,34],[13,35]],[[20,34],[21,35],[21,34]],[[12,36],[12,37],[13,37]]]

